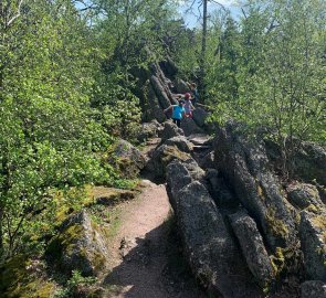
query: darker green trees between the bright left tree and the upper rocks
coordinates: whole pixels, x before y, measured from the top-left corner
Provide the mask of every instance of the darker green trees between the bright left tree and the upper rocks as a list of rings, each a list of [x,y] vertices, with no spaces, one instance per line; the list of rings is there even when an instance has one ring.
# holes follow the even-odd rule
[[[134,140],[141,118],[139,74],[165,53],[170,1],[99,0],[93,32],[101,52],[92,105],[111,135]],[[140,75],[141,76],[141,75]],[[141,79],[141,77],[140,77]]]

